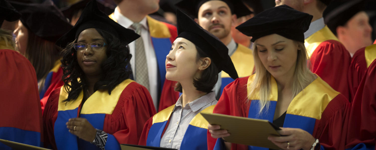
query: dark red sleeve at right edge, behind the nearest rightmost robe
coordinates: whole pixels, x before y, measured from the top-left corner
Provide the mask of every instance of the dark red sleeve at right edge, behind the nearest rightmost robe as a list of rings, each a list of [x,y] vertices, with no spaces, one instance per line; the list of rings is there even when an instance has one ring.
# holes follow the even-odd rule
[[[365,48],[361,48],[355,52],[349,67],[348,81],[350,87],[350,102],[352,102],[356,90],[358,90],[359,83],[367,70],[367,62],[365,61],[364,49]]]

